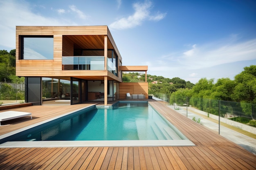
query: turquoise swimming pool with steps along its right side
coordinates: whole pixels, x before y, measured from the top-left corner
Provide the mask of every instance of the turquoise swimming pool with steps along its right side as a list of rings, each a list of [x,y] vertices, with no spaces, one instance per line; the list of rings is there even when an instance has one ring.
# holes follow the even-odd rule
[[[1,143],[4,142],[2,139]],[[152,146],[158,141],[164,145],[188,143],[177,128],[159,115],[148,102],[119,102],[111,109],[90,107],[68,114],[46,124],[11,135],[5,141],[13,144],[46,142],[96,144],[117,142],[130,146],[132,143]],[[137,142],[135,142],[137,141]],[[187,142],[189,141],[189,142]],[[33,143],[32,143],[33,142]],[[8,143],[8,142],[7,142]],[[193,143],[192,143],[193,144]],[[0,147],[4,145],[1,144]]]

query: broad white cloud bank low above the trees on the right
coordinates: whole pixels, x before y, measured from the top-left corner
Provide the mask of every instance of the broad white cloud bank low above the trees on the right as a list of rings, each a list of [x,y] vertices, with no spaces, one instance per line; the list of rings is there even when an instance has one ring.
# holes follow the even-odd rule
[[[214,43],[194,44],[185,53],[172,51],[169,55],[154,58],[155,60],[149,57],[149,61],[144,61],[148,65],[148,74],[151,75],[180,77],[193,83],[202,77],[232,79],[238,74],[238,70],[242,71],[243,66],[238,68],[238,62],[247,61],[246,63],[255,65],[256,39],[238,42],[227,38]],[[254,62],[249,62],[250,60]],[[222,68],[223,66],[228,68]]]

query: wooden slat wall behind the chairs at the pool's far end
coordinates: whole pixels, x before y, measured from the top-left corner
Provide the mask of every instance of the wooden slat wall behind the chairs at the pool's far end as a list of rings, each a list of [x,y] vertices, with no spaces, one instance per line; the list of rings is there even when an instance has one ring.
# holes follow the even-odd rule
[[[130,95],[143,94],[148,99],[148,83],[119,83],[119,99],[126,99],[126,93],[130,93]]]

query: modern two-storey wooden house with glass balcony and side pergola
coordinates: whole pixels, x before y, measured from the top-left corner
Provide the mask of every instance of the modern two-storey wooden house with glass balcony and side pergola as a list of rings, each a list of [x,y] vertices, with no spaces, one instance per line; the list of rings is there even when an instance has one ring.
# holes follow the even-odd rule
[[[122,66],[108,26],[16,26],[16,75],[25,77],[25,102],[77,104],[148,97],[148,83],[123,83]]]

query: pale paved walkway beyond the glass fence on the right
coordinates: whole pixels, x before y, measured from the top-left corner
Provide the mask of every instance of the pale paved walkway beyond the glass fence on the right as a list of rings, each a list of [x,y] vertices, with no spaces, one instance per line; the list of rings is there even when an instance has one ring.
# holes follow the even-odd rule
[[[174,106],[169,106],[169,107],[174,109]],[[175,107],[177,107],[177,106],[175,106]],[[179,108],[181,108],[181,109],[176,110],[176,111],[181,113],[182,115],[186,116],[186,107],[179,106]],[[210,120],[204,119],[202,116],[194,114],[194,113],[190,112],[189,110],[188,110],[188,117],[190,119],[192,119],[193,117],[195,117],[195,119],[200,118],[200,124],[207,126],[208,128],[210,128],[216,132],[219,132],[218,124],[216,124]],[[234,143],[242,146],[249,152],[252,152],[254,155],[256,155],[256,139],[253,139],[253,138],[243,135],[239,132],[236,132],[234,130],[226,128],[225,126],[220,126],[220,135],[229,139],[230,141],[233,141]]]

